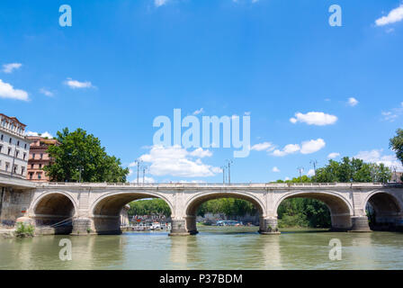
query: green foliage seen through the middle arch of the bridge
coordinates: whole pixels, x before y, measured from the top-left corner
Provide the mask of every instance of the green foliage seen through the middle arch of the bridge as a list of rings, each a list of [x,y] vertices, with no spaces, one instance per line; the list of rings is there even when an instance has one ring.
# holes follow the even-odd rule
[[[257,210],[251,202],[235,198],[220,198],[203,202],[197,210],[197,215],[223,213],[226,216],[245,216],[246,213],[255,215],[256,212]]]

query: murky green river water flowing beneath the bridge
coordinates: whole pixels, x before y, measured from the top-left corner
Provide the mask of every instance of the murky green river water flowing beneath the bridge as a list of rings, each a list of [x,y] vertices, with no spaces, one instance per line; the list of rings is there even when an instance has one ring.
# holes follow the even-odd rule
[[[256,227],[198,229],[189,237],[0,238],[0,269],[403,269],[403,233],[282,230],[264,236]],[[71,240],[71,261],[59,259],[62,238]],[[341,241],[341,260],[329,259],[332,238]]]

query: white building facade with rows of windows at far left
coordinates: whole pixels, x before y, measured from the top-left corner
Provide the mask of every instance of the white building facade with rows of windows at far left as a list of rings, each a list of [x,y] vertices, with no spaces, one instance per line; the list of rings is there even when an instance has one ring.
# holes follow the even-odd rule
[[[25,124],[15,117],[0,113],[0,173],[26,178],[30,142],[25,137]]]

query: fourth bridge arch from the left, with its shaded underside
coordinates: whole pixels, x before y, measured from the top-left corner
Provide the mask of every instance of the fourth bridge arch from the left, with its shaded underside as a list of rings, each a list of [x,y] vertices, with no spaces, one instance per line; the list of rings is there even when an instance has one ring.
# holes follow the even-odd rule
[[[354,216],[354,208],[352,203],[343,195],[333,192],[318,192],[318,191],[295,191],[285,193],[280,197],[274,205],[273,213],[277,216],[277,210],[280,204],[285,199],[290,198],[309,198],[325,203],[330,211],[332,221],[332,229],[346,230],[353,226],[351,217]]]

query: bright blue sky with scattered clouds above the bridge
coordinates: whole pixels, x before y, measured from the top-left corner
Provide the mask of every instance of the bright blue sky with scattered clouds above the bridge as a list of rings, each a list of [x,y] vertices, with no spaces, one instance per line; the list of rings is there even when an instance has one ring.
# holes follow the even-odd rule
[[[71,27],[58,24],[61,4],[72,8]],[[331,4],[342,27],[328,24]],[[398,165],[388,146],[403,119],[401,4],[2,1],[0,112],[31,132],[81,127],[125,166],[148,161],[149,181],[220,182],[233,155],[152,148],[153,120],[175,108],[250,114],[252,148],[261,145],[234,159],[231,182],[308,173],[310,160],[323,166],[331,153]]]

